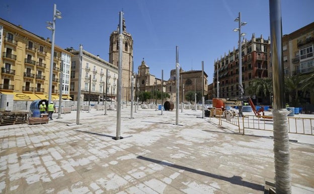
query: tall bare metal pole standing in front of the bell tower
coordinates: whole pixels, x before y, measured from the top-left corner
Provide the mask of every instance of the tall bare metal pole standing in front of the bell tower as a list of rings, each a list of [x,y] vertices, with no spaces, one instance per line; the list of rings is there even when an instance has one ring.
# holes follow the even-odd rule
[[[120,140],[121,132],[121,90],[122,90],[122,18],[123,12],[120,12],[119,18],[119,62],[118,62],[118,85],[117,85],[117,133],[116,140]]]

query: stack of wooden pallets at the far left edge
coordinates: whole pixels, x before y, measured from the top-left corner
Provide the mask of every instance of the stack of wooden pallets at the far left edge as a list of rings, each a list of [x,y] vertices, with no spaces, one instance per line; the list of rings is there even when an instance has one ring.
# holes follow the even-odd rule
[[[25,111],[0,111],[0,125],[26,123],[27,115]]]

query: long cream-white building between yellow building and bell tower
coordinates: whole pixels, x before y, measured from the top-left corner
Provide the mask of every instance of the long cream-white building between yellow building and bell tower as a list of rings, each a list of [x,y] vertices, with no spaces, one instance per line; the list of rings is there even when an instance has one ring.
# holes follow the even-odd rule
[[[86,50],[82,52],[82,69],[80,69],[80,51],[67,49],[71,57],[70,97],[77,101],[78,85],[81,84],[82,101],[102,101],[103,96],[115,99],[117,95],[118,68],[113,64]],[[79,80],[80,71],[82,79]],[[107,73],[108,71],[108,73]],[[107,88],[106,88],[107,82]]]

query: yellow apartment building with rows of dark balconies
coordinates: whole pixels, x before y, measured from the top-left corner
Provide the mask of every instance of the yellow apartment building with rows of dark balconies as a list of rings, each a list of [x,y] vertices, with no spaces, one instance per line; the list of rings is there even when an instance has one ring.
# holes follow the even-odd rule
[[[0,18],[0,93],[12,94],[14,101],[48,99],[51,42],[22,26]],[[55,45],[52,99],[58,99],[61,55],[72,56]],[[1,107],[4,108],[4,107]],[[19,108],[15,108],[19,109]]]

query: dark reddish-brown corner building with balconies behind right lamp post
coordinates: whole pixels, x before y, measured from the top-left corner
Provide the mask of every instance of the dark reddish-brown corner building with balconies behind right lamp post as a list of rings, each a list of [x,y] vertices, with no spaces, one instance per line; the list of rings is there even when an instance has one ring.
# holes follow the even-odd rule
[[[242,85],[244,88],[243,97],[250,97],[247,87],[253,79],[268,77],[268,46],[270,39],[257,38],[255,34],[252,39],[246,39],[242,45]],[[217,85],[219,84],[218,90]],[[213,97],[216,98],[237,98],[239,97],[239,49],[233,48],[228,54],[214,61],[213,75]],[[263,99],[252,95],[254,101],[262,102]]]

